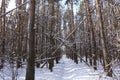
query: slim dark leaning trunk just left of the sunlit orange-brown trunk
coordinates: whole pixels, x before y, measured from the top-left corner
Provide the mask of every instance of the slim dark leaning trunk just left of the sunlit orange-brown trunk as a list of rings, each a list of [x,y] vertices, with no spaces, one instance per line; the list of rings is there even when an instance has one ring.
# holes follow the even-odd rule
[[[96,55],[96,41],[95,41],[95,34],[94,34],[94,25],[93,25],[93,21],[92,21],[92,14],[91,14],[91,10],[90,10],[90,2],[89,0],[86,0],[86,3],[87,3],[87,9],[88,9],[88,23],[89,23],[89,27],[90,27],[90,45],[92,46],[91,47],[91,59],[93,59],[93,66],[94,66],[94,69],[96,70],[97,69],[97,63],[96,63],[96,60],[97,60],[97,55]],[[92,64],[92,63],[91,63]]]

